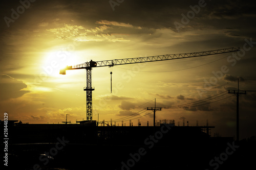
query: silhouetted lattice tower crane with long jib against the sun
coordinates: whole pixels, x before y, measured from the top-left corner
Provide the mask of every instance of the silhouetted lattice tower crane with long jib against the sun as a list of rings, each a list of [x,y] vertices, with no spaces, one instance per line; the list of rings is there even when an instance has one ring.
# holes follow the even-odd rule
[[[115,60],[104,60],[104,61],[91,60],[89,62],[85,62],[78,65],[66,66],[65,68],[59,71],[59,74],[66,75],[66,70],[86,69],[87,86],[84,87],[83,90],[86,91],[87,120],[92,120],[92,115],[93,115],[92,114],[92,91],[95,89],[94,87],[92,87],[92,68],[93,67],[104,67],[104,66],[113,67],[115,65],[209,56],[209,55],[216,55],[216,54],[223,54],[223,53],[230,53],[230,52],[237,52],[237,51],[240,51],[240,47],[230,47],[230,48],[223,48],[219,50],[211,50],[211,51],[196,52],[196,53],[168,54],[168,55],[159,55],[159,56],[150,56],[150,57],[138,57],[138,58],[115,59]]]

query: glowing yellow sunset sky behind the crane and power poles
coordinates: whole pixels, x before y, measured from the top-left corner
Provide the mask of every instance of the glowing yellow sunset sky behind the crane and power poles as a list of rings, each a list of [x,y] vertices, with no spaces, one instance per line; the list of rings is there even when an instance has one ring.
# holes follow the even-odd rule
[[[235,136],[236,96],[226,90],[237,89],[238,78],[241,90],[256,90],[255,4],[249,0],[118,2],[1,2],[0,119],[7,112],[9,119],[30,124],[61,123],[66,114],[72,123],[86,120],[86,70],[59,75],[66,65],[240,46],[241,52],[233,56],[227,53],[92,71],[93,120],[99,114],[100,121],[118,119],[116,124],[121,125],[121,118],[154,107],[156,98],[157,107],[163,108],[156,113],[158,121],[175,119],[176,125],[182,125],[181,117],[185,117],[191,126],[197,120],[199,126],[205,126],[208,119],[216,127],[212,135]],[[208,105],[165,108],[210,96],[219,97],[207,102],[231,97]],[[240,95],[241,138],[256,135],[255,105],[255,92]],[[147,113],[150,111],[131,117],[133,124],[137,126],[136,117],[142,116],[142,126],[147,120],[152,126],[153,114],[143,116]],[[129,119],[124,123],[128,126]]]

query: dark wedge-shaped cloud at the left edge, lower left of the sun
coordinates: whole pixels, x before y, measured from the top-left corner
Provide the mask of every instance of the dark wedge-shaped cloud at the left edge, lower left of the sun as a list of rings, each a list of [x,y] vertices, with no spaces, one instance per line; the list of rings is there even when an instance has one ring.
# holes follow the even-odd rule
[[[20,96],[30,92],[28,90],[22,90],[27,87],[25,83],[15,80],[8,75],[1,75],[0,80],[0,100],[19,98]]]

